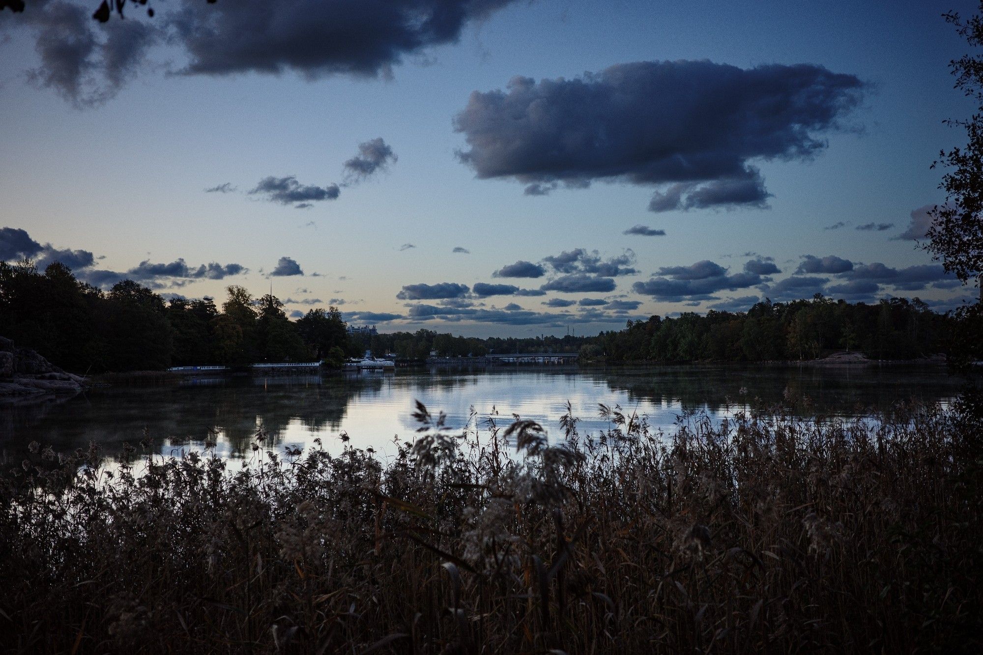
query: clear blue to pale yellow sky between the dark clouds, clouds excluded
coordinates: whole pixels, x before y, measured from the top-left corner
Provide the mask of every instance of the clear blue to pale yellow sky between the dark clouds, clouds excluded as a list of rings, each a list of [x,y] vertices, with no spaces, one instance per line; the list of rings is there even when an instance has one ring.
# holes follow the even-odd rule
[[[38,3],[34,16],[50,12],[56,2]],[[89,4],[81,6],[90,11]],[[213,7],[198,4],[199,11]],[[973,109],[952,89],[947,68],[967,46],[940,17],[949,9],[970,14],[972,3],[823,2],[794,11],[779,2],[486,4],[493,11],[464,21],[456,42],[400,52],[401,63],[377,76],[334,73],[311,80],[305,75],[311,71],[296,70],[185,75],[181,71],[194,60],[193,50],[172,38],[153,45],[113,97],[83,107],[57,87],[38,83],[36,75],[32,81],[29,71],[45,66],[35,50],[43,26],[25,20],[27,13],[4,12],[0,226],[26,230],[34,241],[55,249],[104,257],[89,270],[126,273],[145,261],[167,264],[179,258],[192,268],[239,264],[249,272],[222,279],[147,273],[145,279],[165,294],[218,299],[229,283],[255,294],[272,284],[281,298],[325,305],[344,300],[340,309],[352,312],[353,322],[377,323],[384,330],[539,334],[575,326],[578,333],[589,333],[650,314],[738,308],[752,296],[775,297],[775,285],[789,275],[809,275],[806,269],[794,273],[805,255],[835,256],[852,265],[812,274],[827,280],[816,283],[834,297],[919,296],[946,308],[974,293],[948,288],[947,278],[927,268],[911,268],[932,263],[913,241],[896,239],[909,227],[912,210],[943,200],[940,172],[929,164],[939,149],[958,145],[960,134],[942,120]],[[172,6],[156,6],[152,21],[136,12],[127,21],[167,26]],[[227,8],[233,11],[232,5]],[[92,30],[103,38],[101,28]],[[529,196],[523,193],[529,180],[516,179],[518,173],[479,179],[481,170],[455,154],[472,148],[468,138],[488,127],[481,123],[455,131],[455,117],[479,106],[469,105],[474,91],[508,93],[509,81],[523,76],[534,81],[535,92],[542,91],[541,101],[554,102],[560,94],[549,95],[543,80],[583,79],[585,72],[622,70],[633,62],[676,60],[709,60],[745,71],[808,64],[851,76],[863,86],[856,106],[838,111],[836,126],[814,130],[813,138],[825,147],[813,156],[769,160],[751,151],[742,160],[741,165],[760,169],[770,194],[756,205],[654,212],[649,204],[654,193],[665,191],[663,178],[632,182],[591,167],[560,177],[534,172],[536,180],[552,180],[559,188]],[[689,80],[691,69],[683,68],[680,79]],[[646,116],[651,111],[658,117],[665,107],[683,102],[681,95],[670,85],[632,102]],[[724,104],[726,98],[720,100]],[[714,103],[699,108],[711,112],[708,123],[715,120]],[[690,109],[683,102],[681,111]],[[586,121],[577,111],[570,109],[564,120]],[[608,129],[620,126],[618,119],[609,120]],[[669,121],[659,130],[678,124]],[[588,129],[592,125],[587,121]],[[496,144],[507,136],[492,133]],[[360,144],[377,138],[398,159],[387,159],[385,170],[345,186],[346,179],[353,181],[346,178],[344,163],[359,153]],[[517,139],[529,143],[532,137]],[[524,162],[513,157],[505,165]],[[296,176],[300,185],[321,189],[342,186],[336,200],[297,208],[247,193],[269,176]],[[564,188],[584,176],[589,188]],[[204,192],[225,183],[238,191]],[[838,229],[824,229],[840,222]],[[870,223],[871,229],[857,229]],[[665,236],[623,234],[636,224],[665,230]],[[414,247],[403,248],[407,244]],[[454,253],[455,247],[470,252]],[[590,262],[618,258],[629,262],[622,268],[635,272],[610,277],[610,291],[397,298],[406,285],[444,282],[539,289],[570,274],[544,260],[578,248],[585,256],[573,274],[595,279],[599,273],[585,272]],[[753,285],[727,281],[759,257],[773,258],[769,261],[781,273]],[[269,277],[281,258],[296,262],[305,274]],[[545,274],[492,276],[517,261],[541,265]],[[706,261],[726,270],[681,272]],[[895,272],[878,273],[867,266],[874,263]],[[653,278],[681,288],[682,295],[653,295],[652,289],[665,287],[647,284]],[[693,280],[711,290],[696,293]],[[901,280],[904,284],[896,283]],[[864,284],[844,286],[849,282]],[[607,304],[555,307],[584,298]],[[306,311],[316,304],[294,303],[288,309]],[[421,305],[432,309],[413,309]],[[444,312],[448,309],[454,312]],[[379,322],[376,315],[404,318]]]

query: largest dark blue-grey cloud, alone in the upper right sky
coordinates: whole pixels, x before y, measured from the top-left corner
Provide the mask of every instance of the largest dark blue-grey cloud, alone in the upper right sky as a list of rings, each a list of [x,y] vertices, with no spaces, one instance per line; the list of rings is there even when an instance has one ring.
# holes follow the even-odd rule
[[[455,129],[479,178],[514,178],[527,194],[604,180],[657,187],[657,211],[762,207],[769,194],[749,162],[825,149],[863,89],[808,64],[636,62],[475,91]]]

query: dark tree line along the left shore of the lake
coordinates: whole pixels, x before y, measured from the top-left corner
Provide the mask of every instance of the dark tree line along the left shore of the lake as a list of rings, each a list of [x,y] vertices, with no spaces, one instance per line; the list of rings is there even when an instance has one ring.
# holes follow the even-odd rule
[[[165,301],[133,280],[102,291],[55,263],[0,263],[0,334],[79,373],[170,366],[323,359],[340,367],[355,354],[340,312],[313,309],[291,321],[271,294],[229,286],[211,298]]]

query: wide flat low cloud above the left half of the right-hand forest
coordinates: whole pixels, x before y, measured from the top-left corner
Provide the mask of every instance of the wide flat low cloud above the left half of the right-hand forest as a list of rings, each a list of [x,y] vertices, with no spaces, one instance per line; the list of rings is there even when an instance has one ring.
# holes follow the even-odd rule
[[[664,302],[717,300],[713,294],[718,291],[746,289],[765,281],[752,272],[728,275],[726,268],[709,260],[688,267],[663,267],[657,274],[660,276],[635,282],[632,289]]]

